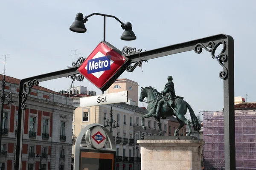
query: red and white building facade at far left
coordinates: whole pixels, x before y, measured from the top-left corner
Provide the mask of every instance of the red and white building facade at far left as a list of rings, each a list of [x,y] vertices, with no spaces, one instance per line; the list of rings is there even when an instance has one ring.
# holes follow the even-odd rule
[[[3,79],[3,75],[0,75]],[[4,105],[1,170],[14,169],[19,79],[6,76],[5,92],[14,104]],[[2,90],[2,89],[1,89]],[[0,91],[2,93],[2,91]],[[70,170],[72,150],[72,99],[34,86],[26,100],[22,145],[22,170]]]

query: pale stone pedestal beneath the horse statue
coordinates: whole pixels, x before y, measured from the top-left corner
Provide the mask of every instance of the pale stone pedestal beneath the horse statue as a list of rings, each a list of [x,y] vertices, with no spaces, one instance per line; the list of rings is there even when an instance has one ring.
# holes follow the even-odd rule
[[[196,137],[145,136],[137,143],[141,146],[141,170],[202,170],[204,141]]]

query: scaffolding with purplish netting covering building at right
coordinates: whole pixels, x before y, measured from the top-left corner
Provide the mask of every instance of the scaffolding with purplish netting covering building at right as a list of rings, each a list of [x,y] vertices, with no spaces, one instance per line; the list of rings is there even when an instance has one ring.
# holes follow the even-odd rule
[[[236,170],[256,170],[256,111],[235,111]],[[204,112],[204,170],[224,170],[224,112]]]

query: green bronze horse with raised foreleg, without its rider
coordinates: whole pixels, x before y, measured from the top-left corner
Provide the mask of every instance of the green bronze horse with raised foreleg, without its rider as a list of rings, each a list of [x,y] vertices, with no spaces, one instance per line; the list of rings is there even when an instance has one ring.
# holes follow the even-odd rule
[[[186,119],[185,115],[187,112],[187,109],[189,109],[189,113],[192,119],[192,124],[194,127],[194,130],[199,131],[201,130],[201,125],[198,122],[197,117],[195,116],[195,113],[193,109],[190,107],[190,105],[183,99],[177,98],[175,99],[174,105],[171,107],[164,106],[160,108],[159,116],[155,116],[156,114],[156,106],[157,102],[161,99],[161,94],[152,87],[145,87],[141,89],[140,92],[140,102],[143,102],[144,98],[147,97],[147,103],[148,103],[148,113],[142,116],[141,120],[141,126],[143,129],[146,130],[146,127],[144,126],[144,119],[148,117],[154,116],[154,118],[157,121],[157,125],[159,127],[160,133],[159,136],[162,135],[162,128],[161,128],[161,122],[160,117],[169,117],[169,116],[176,116],[177,121],[180,123],[180,126],[175,130],[174,136],[177,136],[179,134],[179,130],[184,126],[184,124],[188,125],[189,127],[189,133],[186,134],[186,136],[190,136],[192,129],[190,126],[190,121]]]

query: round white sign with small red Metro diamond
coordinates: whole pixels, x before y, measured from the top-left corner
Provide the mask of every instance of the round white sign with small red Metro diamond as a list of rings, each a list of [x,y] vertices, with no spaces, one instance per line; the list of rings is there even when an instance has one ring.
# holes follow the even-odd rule
[[[100,127],[96,126],[91,130],[90,132],[90,144],[92,144],[92,147],[95,149],[101,149],[106,144],[106,132],[105,130]]]

